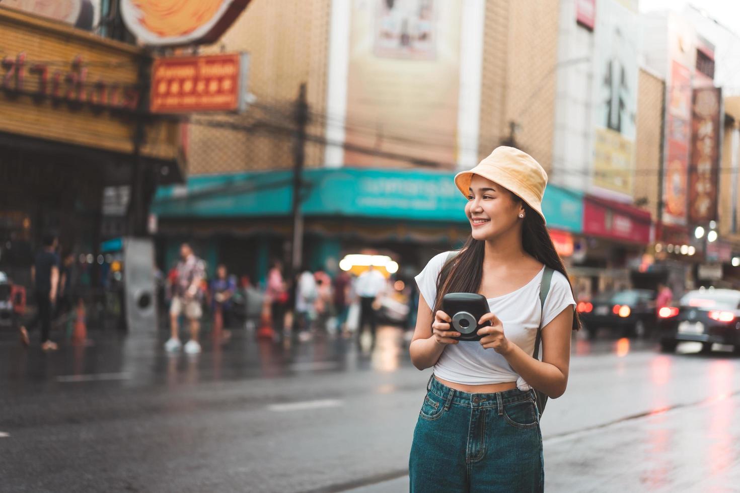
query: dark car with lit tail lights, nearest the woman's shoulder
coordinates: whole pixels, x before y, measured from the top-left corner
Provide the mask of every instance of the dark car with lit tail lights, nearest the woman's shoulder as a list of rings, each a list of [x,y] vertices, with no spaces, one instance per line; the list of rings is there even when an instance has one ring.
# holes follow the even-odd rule
[[[576,305],[589,338],[599,327],[619,331],[622,336],[647,335],[656,324],[656,292],[649,289],[628,289],[601,293],[592,302]]]

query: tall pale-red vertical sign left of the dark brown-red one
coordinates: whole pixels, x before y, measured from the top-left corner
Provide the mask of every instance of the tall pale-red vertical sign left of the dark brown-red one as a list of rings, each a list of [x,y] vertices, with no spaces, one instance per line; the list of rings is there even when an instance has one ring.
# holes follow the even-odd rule
[[[673,60],[666,101],[666,162],[663,176],[663,222],[686,224],[687,177],[691,125],[691,72]]]

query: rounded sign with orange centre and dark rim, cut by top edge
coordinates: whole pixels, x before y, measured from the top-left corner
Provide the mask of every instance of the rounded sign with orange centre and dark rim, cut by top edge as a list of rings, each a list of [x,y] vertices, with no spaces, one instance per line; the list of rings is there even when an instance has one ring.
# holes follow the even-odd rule
[[[250,0],[121,0],[126,27],[144,44],[214,43]]]

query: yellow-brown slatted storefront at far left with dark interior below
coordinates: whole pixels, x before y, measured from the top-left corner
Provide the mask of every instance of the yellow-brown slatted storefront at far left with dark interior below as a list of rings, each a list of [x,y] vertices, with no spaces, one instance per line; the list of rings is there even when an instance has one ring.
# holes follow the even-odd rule
[[[1,6],[0,45],[0,268],[26,284],[47,231],[97,258],[103,189],[135,162],[152,186],[181,179],[178,132],[140,111],[138,47]]]

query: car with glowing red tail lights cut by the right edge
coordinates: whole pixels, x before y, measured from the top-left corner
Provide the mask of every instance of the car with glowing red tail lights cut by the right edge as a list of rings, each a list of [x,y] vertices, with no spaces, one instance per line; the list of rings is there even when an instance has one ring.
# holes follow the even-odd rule
[[[658,311],[663,351],[673,352],[680,341],[701,342],[704,352],[715,343],[740,349],[740,291],[689,291],[677,305]]]

